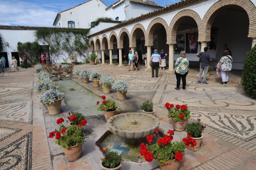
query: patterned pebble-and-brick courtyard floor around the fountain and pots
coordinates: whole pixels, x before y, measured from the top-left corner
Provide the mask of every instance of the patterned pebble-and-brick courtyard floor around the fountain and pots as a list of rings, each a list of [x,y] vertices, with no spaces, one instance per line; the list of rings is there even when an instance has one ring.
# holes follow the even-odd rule
[[[176,77],[172,74],[161,74],[158,78],[151,77],[147,71],[127,71],[110,65],[75,65],[74,69],[87,69],[100,72],[105,76],[125,79],[128,82],[126,100],[118,100],[116,92],[104,94],[107,98],[113,96],[117,104],[117,114],[140,112],[141,104],[152,101],[154,116],[160,122],[159,129],[167,134],[174,130],[165,103],[188,105],[190,116],[188,123],[201,119],[206,126],[203,131],[202,147],[199,151],[185,149],[185,155],[180,163],[180,170],[216,170],[238,169],[252,170],[256,165],[256,106],[255,100],[249,97],[241,85],[221,85],[208,80],[208,85],[197,84],[196,78],[187,77],[186,91],[175,91]],[[143,69],[142,69],[143,70]],[[35,90],[39,79],[33,68],[20,69],[11,72],[6,69],[0,74],[0,167],[2,169],[100,169],[99,161],[103,157],[101,148],[96,142],[108,130],[106,119],[97,110],[96,102],[103,95],[101,87],[93,87],[92,82],[84,83],[76,75],[54,81],[60,82],[60,91],[73,88],[61,104],[61,113],[49,115],[43,107]],[[56,81],[56,82],[57,82]],[[65,83],[68,82],[68,83]],[[70,82],[71,81],[71,82]],[[83,96],[85,88],[90,96]],[[87,92],[86,92],[87,93]],[[72,95],[74,94],[74,95]],[[85,101],[81,101],[85,98]],[[88,99],[87,99],[88,98]],[[89,104],[90,103],[90,104]],[[95,103],[94,105],[91,103]],[[84,126],[85,139],[81,158],[68,161],[61,149],[55,144],[49,133],[56,128],[56,120],[69,117],[69,112],[80,111],[88,121]],[[185,137],[184,131],[174,131],[174,141]],[[108,151],[119,153],[120,146],[111,143]],[[132,150],[126,153],[134,154]],[[123,161],[121,169],[160,169],[157,161]]]

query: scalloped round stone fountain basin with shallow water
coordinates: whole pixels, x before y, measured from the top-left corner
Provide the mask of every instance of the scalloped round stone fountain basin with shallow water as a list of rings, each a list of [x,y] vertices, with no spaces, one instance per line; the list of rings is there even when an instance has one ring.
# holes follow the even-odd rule
[[[128,139],[147,137],[155,132],[159,124],[158,118],[145,113],[122,113],[111,117],[107,122],[113,134]]]

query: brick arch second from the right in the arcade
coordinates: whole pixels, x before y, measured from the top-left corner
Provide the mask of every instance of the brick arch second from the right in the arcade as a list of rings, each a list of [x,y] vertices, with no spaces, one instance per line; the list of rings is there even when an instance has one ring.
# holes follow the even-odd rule
[[[186,9],[186,10],[180,11],[173,17],[173,19],[170,23],[170,26],[169,26],[170,36],[169,36],[169,39],[167,39],[167,43],[176,44],[177,30],[178,30],[178,27],[181,24],[182,20],[185,17],[190,17],[195,20],[195,22],[197,23],[197,27],[198,27],[198,34],[199,34],[198,37],[202,36],[201,35],[202,34],[202,20],[201,20],[200,16],[195,11]]]

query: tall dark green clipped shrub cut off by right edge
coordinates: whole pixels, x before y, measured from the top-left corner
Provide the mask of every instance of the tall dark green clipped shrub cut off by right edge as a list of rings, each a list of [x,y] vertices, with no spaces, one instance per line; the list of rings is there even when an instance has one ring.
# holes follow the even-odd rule
[[[242,73],[242,86],[246,93],[256,99],[256,45],[247,53]]]

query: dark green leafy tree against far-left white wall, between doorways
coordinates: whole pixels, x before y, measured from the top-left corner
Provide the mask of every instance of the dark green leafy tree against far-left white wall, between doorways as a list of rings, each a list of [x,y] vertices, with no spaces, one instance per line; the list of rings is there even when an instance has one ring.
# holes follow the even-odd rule
[[[40,46],[38,42],[18,42],[17,50],[20,57],[27,56],[28,61],[31,64],[38,63],[38,56],[40,55]]]

